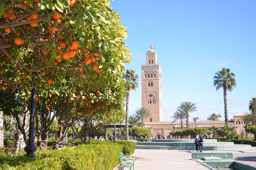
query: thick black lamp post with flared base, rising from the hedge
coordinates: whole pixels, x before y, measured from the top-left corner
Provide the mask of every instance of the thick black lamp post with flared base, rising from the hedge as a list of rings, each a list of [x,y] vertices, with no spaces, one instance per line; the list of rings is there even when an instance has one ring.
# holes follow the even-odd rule
[[[35,85],[36,84],[34,84],[34,86]],[[36,86],[31,91],[28,145],[24,147],[24,150],[27,152],[27,157],[32,157],[32,158],[36,157],[34,152],[37,149],[34,143],[35,113],[36,113]]]

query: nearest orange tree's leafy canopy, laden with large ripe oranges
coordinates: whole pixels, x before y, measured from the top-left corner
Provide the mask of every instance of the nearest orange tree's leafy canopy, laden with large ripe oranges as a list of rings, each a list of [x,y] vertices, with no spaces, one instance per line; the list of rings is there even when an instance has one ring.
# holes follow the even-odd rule
[[[89,91],[120,81],[131,57],[126,28],[112,10],[105,0],[2,2],[0,85],[20,91],[34,82],[61,85],[69,76]]]

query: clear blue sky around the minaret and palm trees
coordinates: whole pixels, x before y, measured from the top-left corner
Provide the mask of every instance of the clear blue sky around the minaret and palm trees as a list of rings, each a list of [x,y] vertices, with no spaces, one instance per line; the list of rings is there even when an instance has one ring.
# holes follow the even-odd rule
[[[224,120],[223,89],[213,86],[223,67],[237,75],[237,86],[227,93],[229,119],[248,112],[256,97],[256,1],[115,0],[111,7],[129,29],[125,44],[132,50],[134,69],[141,77],[150,43],[162,66],[163,121],[172,121],[182,101],[196,103],[193,117],[210,114]],[[139,79],[141,85],[141,79]],[[141,86],[130,93],[129,114],[141,107]]]

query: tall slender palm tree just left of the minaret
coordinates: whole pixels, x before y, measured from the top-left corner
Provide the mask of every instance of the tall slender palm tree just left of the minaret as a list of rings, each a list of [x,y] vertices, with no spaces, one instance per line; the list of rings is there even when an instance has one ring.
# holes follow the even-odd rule
[[[126,84],[125,84],[125,88],[128,89],[129,93],[130,90],[136,90],[136,88],[138,87],[139,83],[138,83],[138,79],[139,79],[139,75],[138,74],[134,74],[135,70],[126,70],[126,73],[123,73],[123,78],[126,80]],[[129,131],[128,131],[128,114],[129,114],[129,99],[130,99],[130,95],[129,93],[127,93],[126,95],[126,117],[125,117],[125,136],[126,136],[126,140],[129,139]]]

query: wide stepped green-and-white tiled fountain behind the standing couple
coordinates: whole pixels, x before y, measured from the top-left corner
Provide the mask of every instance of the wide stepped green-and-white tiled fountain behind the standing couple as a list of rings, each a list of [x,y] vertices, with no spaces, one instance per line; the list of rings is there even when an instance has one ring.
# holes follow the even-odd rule
[[[136,149],[175,149],[195,150],[195,139],[152,139],[150,142],[136,142]],[[204,139],[204,150],[242,149],[251,145],[218,142],[217,139]]]

